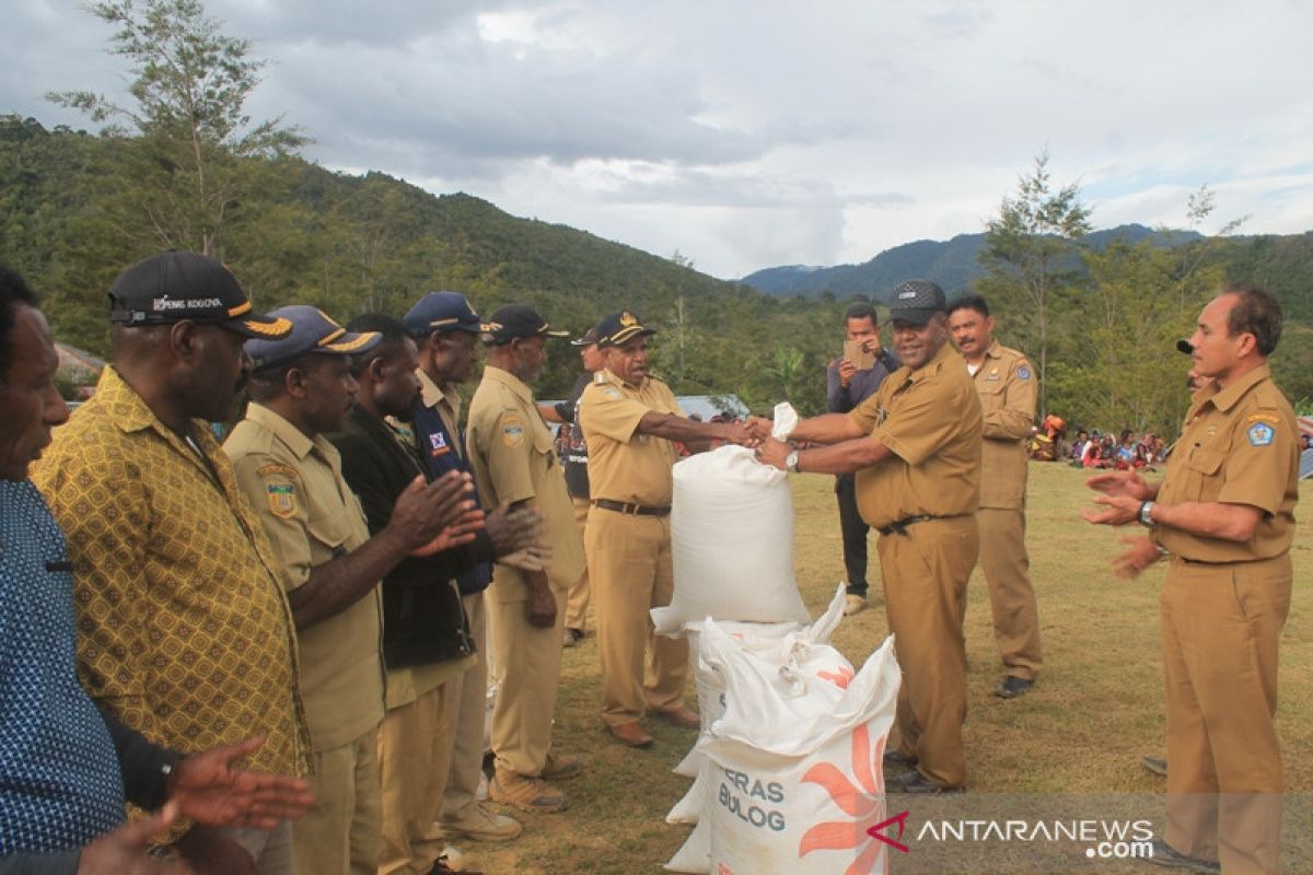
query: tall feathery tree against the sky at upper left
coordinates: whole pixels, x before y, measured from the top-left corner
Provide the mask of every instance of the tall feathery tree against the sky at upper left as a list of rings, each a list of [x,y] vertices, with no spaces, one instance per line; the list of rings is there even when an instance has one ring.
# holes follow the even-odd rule
[[[113,54],[134,79],[123,106],[89,91],[47,98],[135,132],[110,180],[121,232],[142,248],[185,248],[223,257],[223,230],[251,192],[239,159],[294,152],[306,140],[282,118],[252,123],[244,106],[265,62],[251,43],[221,33],[200,0],[96,0],[88,10],[114,25]]]

